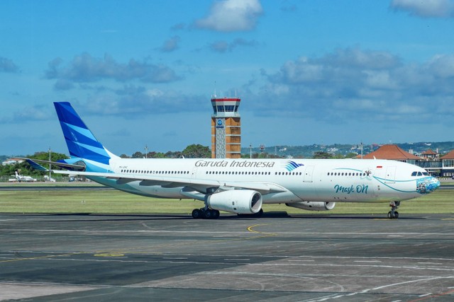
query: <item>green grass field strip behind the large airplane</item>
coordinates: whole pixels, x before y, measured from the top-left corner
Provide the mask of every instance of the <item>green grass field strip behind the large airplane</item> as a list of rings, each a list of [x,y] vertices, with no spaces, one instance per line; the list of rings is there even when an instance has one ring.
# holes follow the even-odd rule
[[[116,190],[16,190],[0,191],[0,212],[61,214],[190,214],[203,203],[193,199],[156,199]],[[387,203],[336,204],[332,211],[305,211],[284,204],[265,204],[264,211],[289,214],[379,214]],[[437,190],[419,199],[402,202],[399,214],[454,214],[454,190]]]

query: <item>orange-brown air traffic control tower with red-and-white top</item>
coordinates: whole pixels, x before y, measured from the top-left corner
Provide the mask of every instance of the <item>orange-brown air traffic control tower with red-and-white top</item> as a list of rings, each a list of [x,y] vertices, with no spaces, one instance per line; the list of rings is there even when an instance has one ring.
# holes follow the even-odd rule
[[[241,157],[240,98],[216,98],[211,105],[211,158]]]

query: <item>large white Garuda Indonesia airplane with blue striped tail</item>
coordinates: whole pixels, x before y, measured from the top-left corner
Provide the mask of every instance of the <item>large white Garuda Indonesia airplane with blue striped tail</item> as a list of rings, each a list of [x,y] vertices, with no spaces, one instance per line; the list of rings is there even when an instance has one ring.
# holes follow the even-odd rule
[[[440,186],[423,168],[380,159],[120,158],[70,103],[54,105],[71,157],[52,162],[60,167],[54,173],[147,197],[200,200],[194,219],[217,219],[219,211],[260,216],[262,204],[328,211],[336,202],[389,202],[388,218],[397,219],[401,201]]]

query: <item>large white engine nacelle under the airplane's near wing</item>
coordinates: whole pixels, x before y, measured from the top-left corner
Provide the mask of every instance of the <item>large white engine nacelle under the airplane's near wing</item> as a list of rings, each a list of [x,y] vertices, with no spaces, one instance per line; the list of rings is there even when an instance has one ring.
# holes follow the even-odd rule
[[[207,199],[211,209],[234,214],[255,214],[262,209],[262,194],[253,190],[228,190],[211,194]]]

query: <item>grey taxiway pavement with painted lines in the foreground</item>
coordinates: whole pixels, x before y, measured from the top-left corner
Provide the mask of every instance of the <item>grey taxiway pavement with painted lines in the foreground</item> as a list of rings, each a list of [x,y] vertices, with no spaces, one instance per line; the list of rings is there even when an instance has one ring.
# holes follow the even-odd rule
[[[0,214],[0,301],[453,301],[454,216]]]

